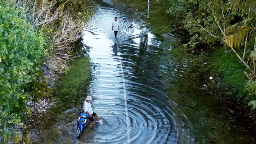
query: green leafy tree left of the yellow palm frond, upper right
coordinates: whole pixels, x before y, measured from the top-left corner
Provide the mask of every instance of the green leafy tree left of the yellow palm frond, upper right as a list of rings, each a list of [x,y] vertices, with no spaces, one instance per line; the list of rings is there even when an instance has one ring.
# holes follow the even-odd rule
[[[221,24],[221,1],[208,0],[172,0],[170,8],[166,10],[171,17],[178,21],[180,27],[185,28],[192,37],[184,46],[195,48],[198,43],[207,44],[210,47],[216,45],[221,38],[220,28],[217,23]],[[227,11],[227,5],[223,5],[224,13]],[[218,17],[215,18],[214,15]],[[225,23],[233,20],[232,14],[227,14]],[[207,32],[206,32],[207,31]]]

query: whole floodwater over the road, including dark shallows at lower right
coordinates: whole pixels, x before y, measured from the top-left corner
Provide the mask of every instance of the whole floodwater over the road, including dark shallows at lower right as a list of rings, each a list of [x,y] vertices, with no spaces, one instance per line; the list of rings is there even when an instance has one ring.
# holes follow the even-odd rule
[[[96,122],[95,130],[91,125],[86,127],[77,143],[255,142],[242,128],[243,122],[226,120],[233,118],[232,110],[196,90],[184,90],[189,93],[184,98],[188,67],[162,60],[161,41],[144,27],[143,21],[127,16],[108,0],[97,5],[85,29],[84,43],[92,47],[89,55],[93,78],[88,94],[101,122]],[[117,40],[112,31],[115,16],[121,29]],[[172,82],[164,83],[167,79],[180,81],[178,87],[182,89],[177,90]]]

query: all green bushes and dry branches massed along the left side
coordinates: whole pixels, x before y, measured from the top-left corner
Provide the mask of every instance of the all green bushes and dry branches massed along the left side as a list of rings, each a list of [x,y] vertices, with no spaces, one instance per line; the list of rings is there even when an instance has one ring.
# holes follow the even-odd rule
[[[0,142],[29,143],[17,128],[31,114],[27,102],[50,95],[41,66],[67,72],[67,62],[84,54],[76,41],[94,9],[91,0],[0,1]]]

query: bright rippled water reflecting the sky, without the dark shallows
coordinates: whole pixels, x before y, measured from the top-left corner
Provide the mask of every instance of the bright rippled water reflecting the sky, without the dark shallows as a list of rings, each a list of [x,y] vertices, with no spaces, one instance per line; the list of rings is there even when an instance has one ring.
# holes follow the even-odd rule
[[[115,16],[121,24],[118,44],[111,26]],[[96,124],[97,130],[86,129],[79,143],[193,143],[189,120],[167,97],[162,84],[163,79],[183,77],[184,67],[161,64],[161,42],[140,26],[142,23],[129,19],[113,5],[98,2],[84,42],[93,47],[90,94],[102,122]],[[163,74],[167,69],[173,77]]]

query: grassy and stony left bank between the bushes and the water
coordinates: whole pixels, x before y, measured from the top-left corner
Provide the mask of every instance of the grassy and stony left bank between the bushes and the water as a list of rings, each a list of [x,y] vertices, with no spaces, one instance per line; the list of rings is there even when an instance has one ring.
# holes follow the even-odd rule
[[[89,56],[80,57],[69,63],[69,71],[55,81],[53,95],[47,100],[31,103],[32,116],[26,121],[23,133],[30,132],[32,143],[70,143],[62,139],[55,123],[67,109],[81,107],[86,96],[87,84],[91,79]]]

